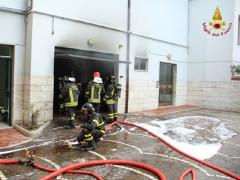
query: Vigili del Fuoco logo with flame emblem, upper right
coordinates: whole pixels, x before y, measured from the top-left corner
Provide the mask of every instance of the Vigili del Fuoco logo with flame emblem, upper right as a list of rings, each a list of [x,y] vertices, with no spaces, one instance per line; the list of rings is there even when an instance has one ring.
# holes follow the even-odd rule
[[[216,7],[215,13],[212,17],[213,21],[203,23],[203,30],[211,36],[219,37],[226,35],[232,28],[232,23],[226,26],[226,22],[223,21],[219,7]]]

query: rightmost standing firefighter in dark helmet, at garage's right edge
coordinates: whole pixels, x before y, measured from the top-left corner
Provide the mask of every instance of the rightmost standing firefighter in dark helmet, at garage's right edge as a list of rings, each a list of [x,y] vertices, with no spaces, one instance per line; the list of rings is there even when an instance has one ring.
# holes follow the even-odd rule
[[[117,121],[117,101],[118,98],[120,98],[120,87],[120,84],[116,85],[115,77],[113,75],[107,77],[106,94],[103,97],[103,100],[106,102],[108,108],[108,123]]]

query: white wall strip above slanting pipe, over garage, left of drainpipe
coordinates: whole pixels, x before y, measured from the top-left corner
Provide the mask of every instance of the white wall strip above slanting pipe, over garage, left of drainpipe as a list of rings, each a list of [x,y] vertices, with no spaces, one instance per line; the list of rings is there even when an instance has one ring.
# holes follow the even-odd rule
[[[126,30],[127,0],[34,0],[34,10]]]

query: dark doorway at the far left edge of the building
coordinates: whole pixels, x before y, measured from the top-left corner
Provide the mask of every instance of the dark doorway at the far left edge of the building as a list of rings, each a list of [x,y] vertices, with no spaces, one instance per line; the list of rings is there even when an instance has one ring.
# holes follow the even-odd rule
[[[0,45],[0,122],[9,126],[11,126],[12,54],[11,46]]]

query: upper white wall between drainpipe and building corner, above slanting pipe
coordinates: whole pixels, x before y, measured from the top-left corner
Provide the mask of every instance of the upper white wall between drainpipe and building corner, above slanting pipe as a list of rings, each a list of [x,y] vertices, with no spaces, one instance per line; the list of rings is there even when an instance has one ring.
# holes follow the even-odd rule
[[[132,0],[131,31],[187,45],[188,0]]]

